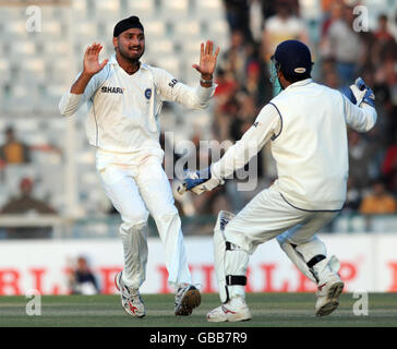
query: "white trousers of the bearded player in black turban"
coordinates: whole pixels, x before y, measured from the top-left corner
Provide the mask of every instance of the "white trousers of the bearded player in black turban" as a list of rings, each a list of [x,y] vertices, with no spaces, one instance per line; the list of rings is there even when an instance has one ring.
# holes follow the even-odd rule
[[[191,284],[181,220],[175,206],[168,178],[161,167],[161,158],[146,156],[136,161],[131,154],[97,151],[97,170],[104,189],[122,224],[119,232],[124,252],[123,281],[139,288],[146,278],[148,215],[154,218],[165,246],[168,282],[171,287]]]

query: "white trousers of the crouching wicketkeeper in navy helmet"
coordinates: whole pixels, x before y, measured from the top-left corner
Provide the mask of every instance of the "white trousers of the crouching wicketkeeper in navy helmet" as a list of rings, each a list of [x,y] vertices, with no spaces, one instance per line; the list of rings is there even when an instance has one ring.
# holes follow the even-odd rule
[[[317,255],[326,255],[325,244],[316,237],[316,232],[325,227],[338,212],[333,210],[304,210],[289,204],[278,191],[276,185],[260,192],[251,202],[243,207],[225,227],[225,240],[240,246],[248,254],[252,254],[256,246],[273,238],[282,248],[285,242],[293,245],[297,252],[287,253],[288,257],[304,273],[309,270],[305,264]],[[303,268],[297,256],[303,258]],[[243,269],[248,265],[248,255]],[[239,262],[236,262],[239,265]],[[320,278],[329,274],[323,264],[318,273]],[[233,263],[232,263],[233,264]],[[237,270],[237,269],[236,269]],[[231,296],[244,296],[244,288],[233,286]]]

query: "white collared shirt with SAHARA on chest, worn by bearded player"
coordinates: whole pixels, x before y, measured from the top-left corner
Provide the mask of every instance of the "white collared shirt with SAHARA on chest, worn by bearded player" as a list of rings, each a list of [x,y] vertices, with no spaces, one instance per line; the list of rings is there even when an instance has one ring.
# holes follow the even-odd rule
[[[129,75],[112,55],[105,68],[95,74],[84,94],[65,93],[59,104],[62,116],[73,116],[88,105],[86,133],[91,145],[101,151],[130,153],[142,157],[163,156],[159,145],[159,112],[166,100],[189,109],[204,109],[216,85],[190,87],[167,71],[141,63]]]

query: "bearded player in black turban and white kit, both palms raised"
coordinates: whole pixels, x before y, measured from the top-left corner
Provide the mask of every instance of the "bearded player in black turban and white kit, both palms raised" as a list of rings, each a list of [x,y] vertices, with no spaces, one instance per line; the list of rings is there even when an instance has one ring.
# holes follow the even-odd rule
[[[213,73],[219,48],[202,44],[197,87],[178,82],[170,73],[140,62],[145,50],[144,28],[139,17],[120,21],[113,31],[116,53],[101,63],[103,48],[89,46],[84,69],[62,96],[60,112],[72,116],[88,104],[86,133],[96,147],[96,167],[105,191],[120,213],[120,236],[124,269],[115,282],[121,303],[132,316],[145,315],[140,287],[146,278],[147,237],[151,214],[165,245],[168,282],[176,289],[176,315],[190,315],[200,305],[200,291],[192,285],[181,220],[168,178],[161,167],[159,112],[164,101],[177,101],[190,109],[204,109],[215,91]]]

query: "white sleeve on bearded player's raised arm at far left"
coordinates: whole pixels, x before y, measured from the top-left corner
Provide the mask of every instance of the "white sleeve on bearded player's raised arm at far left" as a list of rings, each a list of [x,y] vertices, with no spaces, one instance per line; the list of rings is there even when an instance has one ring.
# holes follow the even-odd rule
[[[79,79],[82,72],[79,73],[75,81]],[[63,94],[61,101],[59,103],[59,111],[64,117],[71,117],[73,116],[80,108],[83,106],[98,89],[100,85],[100,79],[101,74],[98,73],[94,75],[87,86],[84,89],[83,94],[72,94],[70,89]]]

